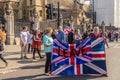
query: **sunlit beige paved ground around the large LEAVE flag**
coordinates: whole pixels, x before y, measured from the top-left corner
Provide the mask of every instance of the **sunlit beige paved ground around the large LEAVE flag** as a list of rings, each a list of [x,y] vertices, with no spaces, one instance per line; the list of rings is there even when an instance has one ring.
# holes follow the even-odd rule
[[[0,80],[120,80],[120,43],[110,43],[106,49],[108,77],[91,76],[46,76],[44,75],[45,58],[32,60],[32,54],[28,54],[28,60],[20,60],[20,46],[6,46],[5,58],[9,62],[7,68],[0,61]],[[45,55],[42,53],[42,55]]]

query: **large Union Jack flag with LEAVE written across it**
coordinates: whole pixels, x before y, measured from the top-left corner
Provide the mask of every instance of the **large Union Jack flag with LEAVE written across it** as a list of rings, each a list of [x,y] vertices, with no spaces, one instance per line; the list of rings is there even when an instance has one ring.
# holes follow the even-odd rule
[[[54,40],[52,75],[106,75],[106,55],[103,38],[90,38],[79,44]]]

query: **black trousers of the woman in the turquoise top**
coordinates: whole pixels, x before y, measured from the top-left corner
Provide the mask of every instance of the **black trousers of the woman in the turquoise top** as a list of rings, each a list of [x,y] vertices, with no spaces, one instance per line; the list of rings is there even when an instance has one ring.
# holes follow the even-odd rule
[[[46,53],[45,73],[48,73],[51,67],[51,54],[51,52]]]

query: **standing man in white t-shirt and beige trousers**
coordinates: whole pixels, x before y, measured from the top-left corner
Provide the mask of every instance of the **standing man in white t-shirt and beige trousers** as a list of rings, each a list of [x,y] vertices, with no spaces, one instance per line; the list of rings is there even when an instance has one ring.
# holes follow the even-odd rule
[[[27,49],[28,49],[28,27],[25,26],[23,27],[23,30],[20,32],[20,45],[21,45],[21,57],[20,59],[28,59],[26,54],[27,54]]]

